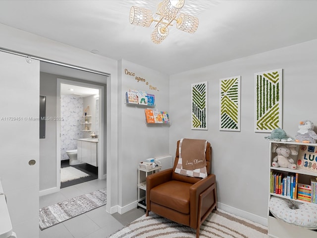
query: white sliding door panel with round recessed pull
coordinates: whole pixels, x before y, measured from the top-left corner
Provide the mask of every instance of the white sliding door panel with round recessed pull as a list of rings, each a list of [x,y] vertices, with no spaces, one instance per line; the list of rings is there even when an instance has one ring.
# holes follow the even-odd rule
[[[39,236],[40,62],[0,52],[0,177],[13,231]],[[34,160],[35,165],[29,165]],[[36,235],[35,235],[36,234]]]

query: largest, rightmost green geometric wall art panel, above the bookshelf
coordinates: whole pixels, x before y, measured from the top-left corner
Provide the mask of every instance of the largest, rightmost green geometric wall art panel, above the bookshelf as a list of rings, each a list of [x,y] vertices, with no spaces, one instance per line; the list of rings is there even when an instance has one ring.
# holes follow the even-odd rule
[[[282,128],[283,69],[255,73],[255,132]]]

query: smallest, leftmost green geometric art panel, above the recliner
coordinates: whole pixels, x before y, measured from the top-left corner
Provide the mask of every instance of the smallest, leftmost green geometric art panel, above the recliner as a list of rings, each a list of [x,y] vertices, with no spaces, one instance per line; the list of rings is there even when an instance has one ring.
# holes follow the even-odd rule
[[[192,116],[191,123],[193,130],[208,130],[207,126],[207,100],[208,82],[193,83],[191,85]]]

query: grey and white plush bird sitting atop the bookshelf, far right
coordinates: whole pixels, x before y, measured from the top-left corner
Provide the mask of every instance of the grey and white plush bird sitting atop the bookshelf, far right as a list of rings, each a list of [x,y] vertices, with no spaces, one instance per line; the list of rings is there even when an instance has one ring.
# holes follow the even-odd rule
[[[295,141],[304,143],[316,143],[317,134],[314,131],[314,123],[310,120],[299,122]]]

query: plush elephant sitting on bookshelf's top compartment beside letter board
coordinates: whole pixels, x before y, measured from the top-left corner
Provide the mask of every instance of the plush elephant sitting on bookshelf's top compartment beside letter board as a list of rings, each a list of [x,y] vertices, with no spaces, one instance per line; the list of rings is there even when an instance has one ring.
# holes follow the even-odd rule
[[[298,155],[296,151],[296,145],[272,145],[272,152],[276,152],[277,156],[273,158],[273,167],[289,168],[291,170],[296,169],[296,164],[290,155]]]

